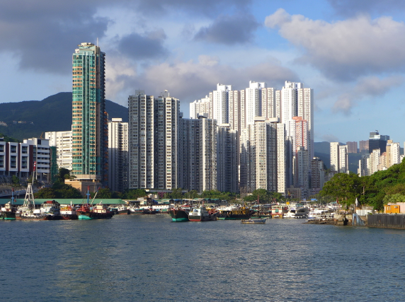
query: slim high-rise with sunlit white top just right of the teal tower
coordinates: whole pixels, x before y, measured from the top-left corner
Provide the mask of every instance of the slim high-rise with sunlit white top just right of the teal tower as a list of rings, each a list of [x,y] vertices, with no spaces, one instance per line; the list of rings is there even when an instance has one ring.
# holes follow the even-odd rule
[[[123,192],[128,188],[128,123],[122,118],[108,122],[108,187]]]

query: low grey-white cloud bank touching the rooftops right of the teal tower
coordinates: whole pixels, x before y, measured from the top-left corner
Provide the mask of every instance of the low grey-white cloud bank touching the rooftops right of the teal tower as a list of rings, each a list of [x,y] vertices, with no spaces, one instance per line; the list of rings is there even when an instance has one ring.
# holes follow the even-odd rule
[[[157,95],[166,89],[184,104],[204,97],[215,89],[217,83],[242,89],[249,86],[249,80],[265,81],[269,86],[280,88],[285,80],[298,79],[290,69],[272,62],[234,68],[219,64],[216,57],[207,55],[200,55],[199,62],[190,60],[144,66],[140,73],[132,71],[135,67],[128,61],[120,62],[120,57],[110,60],[113,62],[107,66],[108,98],[118,103],[125,103],[127,95],[134,93],[135,89],[143,89],[148,95]]]

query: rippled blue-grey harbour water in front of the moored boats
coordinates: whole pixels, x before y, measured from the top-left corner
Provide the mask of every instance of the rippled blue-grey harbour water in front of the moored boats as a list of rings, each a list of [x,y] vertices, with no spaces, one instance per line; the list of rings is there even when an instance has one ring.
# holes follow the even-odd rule
[[[1,301],[403,301],[405,231],[270,219],[0,221]]]

